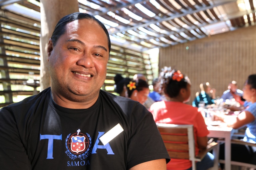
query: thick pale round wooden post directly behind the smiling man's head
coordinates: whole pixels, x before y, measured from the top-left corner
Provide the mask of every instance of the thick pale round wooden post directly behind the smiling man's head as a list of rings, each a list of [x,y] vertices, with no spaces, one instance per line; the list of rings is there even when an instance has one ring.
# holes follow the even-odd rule
[[[57,22],[67,14],[79,12],[78,0],[41,0],[40,38],[40,87],[50,87],[50,74],[47,69],[47,46]]]

